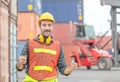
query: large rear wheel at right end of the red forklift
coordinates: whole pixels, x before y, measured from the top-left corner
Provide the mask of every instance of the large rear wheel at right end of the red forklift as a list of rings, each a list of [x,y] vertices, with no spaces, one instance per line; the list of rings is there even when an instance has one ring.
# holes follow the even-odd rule
[[[110,70],[112,67],[112,60],[110,58],[99,58],[97,66],[100,70]]]

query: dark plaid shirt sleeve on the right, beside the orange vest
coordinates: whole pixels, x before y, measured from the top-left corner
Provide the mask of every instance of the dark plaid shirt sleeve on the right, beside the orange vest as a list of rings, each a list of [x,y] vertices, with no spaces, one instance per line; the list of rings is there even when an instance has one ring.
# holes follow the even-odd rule
[[[64,58],[64,50],[63,47],[60,46],[60,57],[58,59],[58,70],[62,75],[66,75],[64,74],[64,70],[66,69],[67,65],[65,62],[65,58]]]

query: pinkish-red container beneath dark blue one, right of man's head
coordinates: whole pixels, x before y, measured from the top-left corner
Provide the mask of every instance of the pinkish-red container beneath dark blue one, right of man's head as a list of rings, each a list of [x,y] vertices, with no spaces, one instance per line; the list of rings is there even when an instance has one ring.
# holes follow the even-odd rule
[[[70,23],[56,23],[53,29],[53,38],[62,44],[71,44],[76,31],[76,28],[73,27],[75,26],[73,24],[71,26]]]

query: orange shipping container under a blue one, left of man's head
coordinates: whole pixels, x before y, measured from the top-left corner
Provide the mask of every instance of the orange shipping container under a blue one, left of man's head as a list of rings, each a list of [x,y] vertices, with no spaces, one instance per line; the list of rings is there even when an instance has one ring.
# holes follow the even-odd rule
[[[18,41],[35,38],[39,33],[40,28],[36,13],[18,13]]]

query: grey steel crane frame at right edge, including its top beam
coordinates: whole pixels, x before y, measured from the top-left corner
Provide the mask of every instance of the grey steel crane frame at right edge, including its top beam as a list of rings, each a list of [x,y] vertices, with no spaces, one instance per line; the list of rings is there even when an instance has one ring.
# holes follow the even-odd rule
[[[118,55],[117,50],[117,26],[120,26],[120,24],[117,23],[117,14],[120,14],[120,12],[117,12],[117,9],[120,9],[120,0],[100,0],[100,4],[102,6],[104,5],[110,5],[111,10],[111,30],[112,30],[112,47],[113,47],[113,56],[114,56],[114,63],[115,66],[118,65],[118,62],[120,62],[120,55]]]

